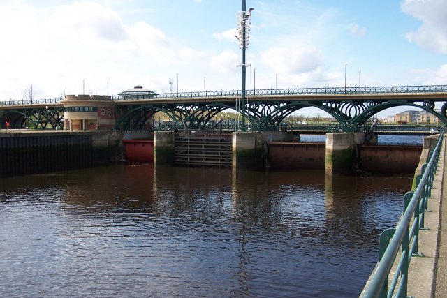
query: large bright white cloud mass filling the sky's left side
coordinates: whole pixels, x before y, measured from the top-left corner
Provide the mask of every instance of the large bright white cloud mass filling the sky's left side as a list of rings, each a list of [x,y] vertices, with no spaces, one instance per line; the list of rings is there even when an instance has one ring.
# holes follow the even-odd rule
[[[115,84],[128,88],[133,83],[127,81],[154,73],[156,66],[200,56],[177,48],[151,24],[126,24],[112,8],[91,1],[49,8],[2,3],[0,26],[10,28],[0,31],[8,40],[0,47],[0,65],[8,70],[0,73],[1,98],[20,98],[20,90],[31,83],[43,98],[60,95],[64,87],[80,93],[83,79],[86,92],[105,94],[110,75],[125,72]]]

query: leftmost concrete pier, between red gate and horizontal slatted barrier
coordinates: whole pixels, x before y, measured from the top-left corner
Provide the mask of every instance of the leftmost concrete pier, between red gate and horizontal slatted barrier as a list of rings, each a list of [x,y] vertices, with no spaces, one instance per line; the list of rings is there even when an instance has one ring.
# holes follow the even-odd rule
[[[154,132],[154,165],[174,165],[173,131]]]

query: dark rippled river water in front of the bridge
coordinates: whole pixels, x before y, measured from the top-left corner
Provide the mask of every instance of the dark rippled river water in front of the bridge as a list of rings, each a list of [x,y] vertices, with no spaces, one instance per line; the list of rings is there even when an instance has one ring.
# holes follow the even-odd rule
[[[410,188],[153,165],[0,179],[0,296],[357,297]]]

